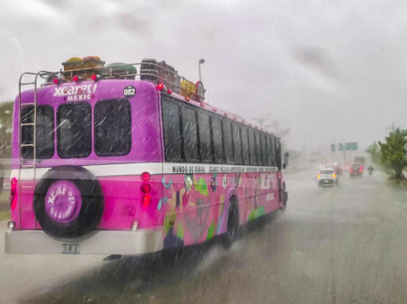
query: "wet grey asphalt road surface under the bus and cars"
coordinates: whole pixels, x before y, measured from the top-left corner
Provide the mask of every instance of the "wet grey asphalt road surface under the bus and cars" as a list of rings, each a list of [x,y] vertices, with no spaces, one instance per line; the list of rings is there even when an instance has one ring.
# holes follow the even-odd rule
[[[1,303],[407,303],[407,191],[380,172],[318,188],[287,175],[289,202],[226,250],[177,256],[4,254]]]

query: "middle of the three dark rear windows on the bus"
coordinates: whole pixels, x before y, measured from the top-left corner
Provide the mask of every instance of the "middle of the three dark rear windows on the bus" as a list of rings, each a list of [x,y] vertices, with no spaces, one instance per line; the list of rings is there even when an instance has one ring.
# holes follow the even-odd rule
[[[57,152],[61,158],[92,151],[92,109],[87,102],[63,103],[57,110]]]

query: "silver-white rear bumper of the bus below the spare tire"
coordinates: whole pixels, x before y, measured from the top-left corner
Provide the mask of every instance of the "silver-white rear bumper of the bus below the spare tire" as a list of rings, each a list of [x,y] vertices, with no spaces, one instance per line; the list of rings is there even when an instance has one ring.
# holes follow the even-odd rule
[[[100,230],[83,240],[59,240],[42,230],[13,230],[5,234],[5,252],[17,254],[61,254],[64,246],[79,245],[71,254],[147,254],[163,248],[162,226],[136,231]],[[65,248],[66,249],[66,248]]]

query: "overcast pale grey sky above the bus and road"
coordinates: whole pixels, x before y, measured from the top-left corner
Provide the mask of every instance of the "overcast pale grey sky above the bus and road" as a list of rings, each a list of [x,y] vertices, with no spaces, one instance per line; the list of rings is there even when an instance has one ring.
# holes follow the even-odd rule
[[[0,101],[23,71],[88,55],[165,60],[191,80],[204,58],[211,105],[270,113],[300,151],[407,128],[405,0],[2,0]]]

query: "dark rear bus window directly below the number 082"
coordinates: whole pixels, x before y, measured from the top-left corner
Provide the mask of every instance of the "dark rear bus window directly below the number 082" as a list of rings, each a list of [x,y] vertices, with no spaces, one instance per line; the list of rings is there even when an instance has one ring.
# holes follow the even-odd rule
[[[94,137],[94,149],[98,156],[129,154],[131,105],[128,99],[105,99],[96,103]]]

